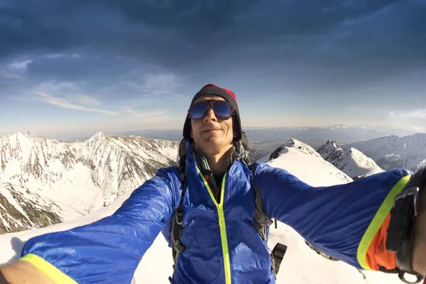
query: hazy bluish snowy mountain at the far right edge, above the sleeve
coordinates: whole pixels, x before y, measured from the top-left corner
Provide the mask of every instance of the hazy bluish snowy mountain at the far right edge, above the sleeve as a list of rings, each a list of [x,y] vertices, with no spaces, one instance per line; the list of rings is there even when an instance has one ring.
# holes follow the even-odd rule
[[[413,170],[426,159],[426,133],[410,136],[386,136],[363,142],[342,145],[346,151],[356,148],[384,170],[407,168]]]

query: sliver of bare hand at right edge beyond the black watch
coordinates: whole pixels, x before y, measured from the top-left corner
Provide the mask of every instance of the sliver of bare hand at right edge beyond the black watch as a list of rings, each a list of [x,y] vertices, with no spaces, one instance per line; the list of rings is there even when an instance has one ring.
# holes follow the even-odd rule
[[[426,186],[420,192],[420,214],[415,222],[413,269],[426,275]]]

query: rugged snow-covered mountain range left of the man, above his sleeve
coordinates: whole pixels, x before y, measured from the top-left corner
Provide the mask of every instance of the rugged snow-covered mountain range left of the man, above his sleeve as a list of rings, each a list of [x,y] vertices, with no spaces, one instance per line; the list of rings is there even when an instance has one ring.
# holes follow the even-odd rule
[[[177,160],[178,143],[138,136],[99,132],[73,143],[31,132],[0,136],[0,232],[81,217]]]

